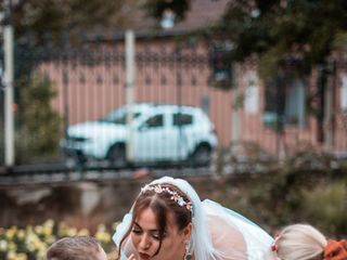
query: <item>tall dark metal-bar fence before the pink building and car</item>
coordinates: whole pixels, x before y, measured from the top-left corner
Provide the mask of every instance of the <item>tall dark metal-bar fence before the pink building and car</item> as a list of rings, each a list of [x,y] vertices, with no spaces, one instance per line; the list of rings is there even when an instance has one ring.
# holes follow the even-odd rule
[[[327,121],[314,119],[305,105],[308,100],[307,93],[319,86],[319,72],[312,74],[308,83],[296,82],[294,87],[285,88],[284,98],[274,95],[271,100],[271,86],[261,86],[254,64],[233,67],[230,74],[233,75],[233,88],[217,88],[216,78],[218,80],[220,75],[211,53],[204,44],[178,48],[172,41],[138,41],[133,102],[143,104],[143,107],[133,108],[130,118],[127,118],[121,117],[119,110],[120,116],[116,115],[117,113],[111,114],[127,104],[123,42],[80,50],[17,52],[14,107],[16,164],[64,161],[62,144],[66,138],[75,145],[78,153],[74,154],[74,158],[79,161],[85,160],[83,153],[87,151],[92,157],[116,160],[124,156],[119,150],[127,146],[127,142],[115,145],[116,140],[119,141],[119,134],[124,135],[125,141],[131,140],[129,136],[136,134],[134,142],[142,145],[134,145],[136,153],[142,150],[140,160],[150,158],[154,162],[176,158],[189,160],[200,147],[206,148],[202,148],[205,154],[202,152],[201,156],[204,158],[208,155],[208,148],[214,146],[214,141],[208,134],[215,133],[218,148],[230,147],[231,144],[233,147],[242,146],[230,151],[243,156],[256,152],[260,153],[258,155],[264,152],[269,155],[291,154],[304,143],[318,150],[324,147],[326,142],[320,139],[320,130],[330,126],[320,128],[320,122],[326,125]],[[334,79],[344,79],[344,75],[345,68],[337,67]],[[347,152],[344,114],[346,98],[342,96],[346,94],[346,81],[335,80],[332,90],[334,103],[331,106],[333,113],[330,119],[332,130],[329,131],[332,136],[327,151],[340,155]],[[0,99],[0,123],[3,123],[3,91]],[[281,113],[277,106],[279,103],[282,107]],[[142,121],[142,125],[152,123],[152,130],[142,131],[138,125],[137,130],[126,128],[126,132],[121,132],[119,128],[106,126],[101,121],[108,118],[118,120],[116,125],[126,126],[129,119],[136,120],[138,114],[144,113],[141,109],[147,109],[144,104],[156,106],[157,109],[157,113],[155,109],[145,112],[151,114],[152,119],[147,117]],[[271,108],[271,104],[274,104],[274,108]],[[166,116],[155,117],[158,113],[166,113],[168,105],[177,106],[169,110],[172,114],[171,119]],[[185,106],[196,107],[197,113],[203,112],[215,128],[210,129],[211,131],[206,130],[204,123],[196,119],[200,131],[190,130],[189,126],[194,125],[195,118],[189,117],[191,112],[189,107],[184,110]],[[319,107],[323,109],[323,106]],[[105,118],[106,115],[108,117]],[[282,122],[281,129],[279,122]],[[79,126],[73,129],[72,126],[76,125]],[[165,127],[165,130],[160,132],[159,127]],[[74,131],[76,134],[72,135]],[[0,132],[2,165],[2,125]],[[87,147],[91,139],[98,138],[100,143]],[[162,146],[160,138],[166,139]],[[114,140],[114,144],[111,139]],[[114,153],[114,157],[111,152]]]

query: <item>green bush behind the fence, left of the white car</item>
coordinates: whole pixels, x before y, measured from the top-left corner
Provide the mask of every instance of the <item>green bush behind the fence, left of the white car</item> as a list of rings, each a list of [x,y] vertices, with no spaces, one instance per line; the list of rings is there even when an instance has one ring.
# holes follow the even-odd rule
[[[51,107],[54,96],[48,77],[34,76],[28,86],[22,87],[16,132],[20,162],[57,152],[62,120]]]

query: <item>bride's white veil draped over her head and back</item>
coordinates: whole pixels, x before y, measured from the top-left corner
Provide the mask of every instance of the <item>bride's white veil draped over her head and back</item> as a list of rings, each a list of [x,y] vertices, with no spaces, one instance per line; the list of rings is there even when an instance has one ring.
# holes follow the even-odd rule
[[[195,256],[195,260],[268,260],[264,252],[270,248],[272,238],[259,226],[236,212],[226,209],[211,200],[204,200],[202,203],[195,190],[182,179],[163,177],[152,181],[150,185],[163,183],[177,186],[188,196],[193,205],[193,229],[190,248],[191,252]],[[218,226],[214,227],[214,223],[208,225],[207,222],[209,217],[211,217],[213,221],[216,220],[215,224],[217,225],[217,219],[222,221],[221,223],[223,225],[219,226],[222,231],[233,229],[239,232],[242,240],[245,240],[247,247],[234,248],[235,243],[232,240],[234,237],[228,236],[228,233],[230,233],[228,231],[223,232],[220,237],[218,233],[218,238],[220,238],[222,246],[214,245],[211,237],[216,238],[216,236],[214,236],[216,234],[213,233]],[[124,217],[123,222],[117,226],[116,233],[113,236],[117,247],[119,247],[120,240],[130,227],[131,219],[132,208],[129,213]],[[128,242],[127,244],[132,245],[131,242]],[[127,245],[127,247],[129,247],[129,245]],[[229,249],[224,250],[226,248]]]

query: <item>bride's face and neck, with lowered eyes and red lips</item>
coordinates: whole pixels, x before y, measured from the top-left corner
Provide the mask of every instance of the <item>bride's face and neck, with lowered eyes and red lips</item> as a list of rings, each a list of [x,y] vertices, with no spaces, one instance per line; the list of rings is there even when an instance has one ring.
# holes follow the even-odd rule
[[[169,212],[162,246],[157,252],[160,237],[156,217],[151,208],[146,208],[139,213],[133,223],[131,239],[141,260],[177,260],[183,259],[190,234],[191,225],[179,231],[174,213]]]

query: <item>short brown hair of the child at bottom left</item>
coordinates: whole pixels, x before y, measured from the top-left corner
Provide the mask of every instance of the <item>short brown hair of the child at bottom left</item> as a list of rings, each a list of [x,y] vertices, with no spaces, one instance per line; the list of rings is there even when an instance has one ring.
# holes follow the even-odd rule
[[[44,260],[95,260],[101,248],[91,236],[64,237],[53,243]]]

